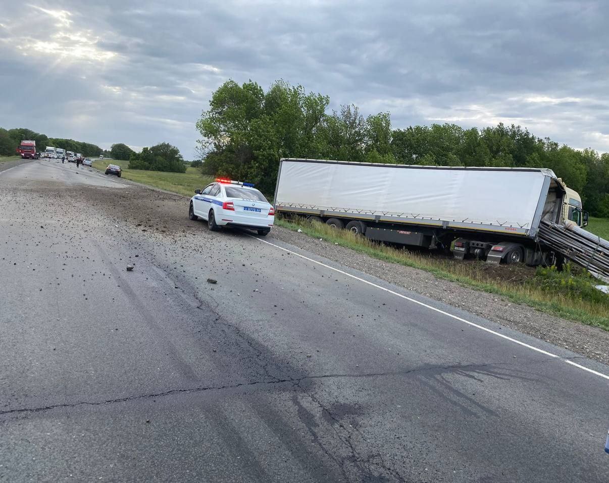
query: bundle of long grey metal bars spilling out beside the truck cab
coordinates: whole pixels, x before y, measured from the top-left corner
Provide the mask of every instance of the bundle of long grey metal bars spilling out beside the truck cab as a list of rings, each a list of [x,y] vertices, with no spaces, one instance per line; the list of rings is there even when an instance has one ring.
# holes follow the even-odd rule
[[[565,224],[542,221],[537,237],[593,276],[609,283],[609,242],[604,238],[579,228],[572,221]]]

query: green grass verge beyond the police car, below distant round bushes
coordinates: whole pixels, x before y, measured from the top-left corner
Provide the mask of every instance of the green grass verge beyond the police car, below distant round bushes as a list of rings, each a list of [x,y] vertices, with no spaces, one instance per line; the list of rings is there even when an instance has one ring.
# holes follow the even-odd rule
[[[197,168],[186,168],[186,173],[165,173],[162,171],[144,171],[129,169],[128,161],[115,159],[97,159],[93,167],[104,172],[108,164],[118,164],[122,168],[122,177],[131,181],[140,182],[162,190],[192,196],[195,189],[201,189],[213,181],[210,176],[203,176]]]

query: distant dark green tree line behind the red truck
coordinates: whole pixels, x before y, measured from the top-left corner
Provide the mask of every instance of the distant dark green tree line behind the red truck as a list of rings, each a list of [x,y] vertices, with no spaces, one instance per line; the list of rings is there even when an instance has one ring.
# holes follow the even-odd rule
[[[47,146],[63,148],[66,151],[81,153],[83,156],[99,156],[104,152],[102,148],[90,142],[74,141],[74,139],[62,139],[60,137],[48,137],[27,128],[0,128],[0,156],[14,156],[16,149],[25,139],[36,141],[37,151],[43,152]]]

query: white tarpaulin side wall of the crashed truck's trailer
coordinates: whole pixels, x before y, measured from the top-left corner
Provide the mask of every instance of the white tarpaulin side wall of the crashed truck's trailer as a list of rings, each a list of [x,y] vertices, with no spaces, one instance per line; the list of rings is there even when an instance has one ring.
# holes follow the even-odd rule
[[[283,159],[275,203],[529,230],[548,176],[554,173]]]

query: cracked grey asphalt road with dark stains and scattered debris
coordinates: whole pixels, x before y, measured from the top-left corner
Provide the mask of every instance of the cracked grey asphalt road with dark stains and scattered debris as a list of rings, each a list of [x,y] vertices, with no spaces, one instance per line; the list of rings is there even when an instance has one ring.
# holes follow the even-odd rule
[[[0,481],[609,480],[609,367],[107,190],[0,173]]]

